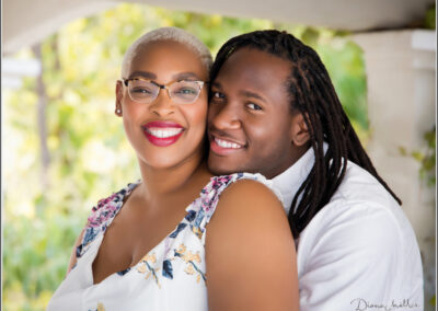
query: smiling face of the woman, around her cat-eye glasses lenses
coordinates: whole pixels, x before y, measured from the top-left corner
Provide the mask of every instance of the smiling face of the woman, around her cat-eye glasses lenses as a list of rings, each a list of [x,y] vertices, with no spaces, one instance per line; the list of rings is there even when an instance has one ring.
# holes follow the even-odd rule
[[[195,53],[186,46],[162,41],[140,47],[124,79],[141,78],[158,84],[181,80],[206,81],[208,72]],[[191,104],[176,104],[160,89],[151,103],[130,99],[123,82],[116,87],[116,110],[122,112],[125,133],[140,164],[172,168],[203,154],[207,117],[207,89]],[[195,160],[195,161],[196,161]]]

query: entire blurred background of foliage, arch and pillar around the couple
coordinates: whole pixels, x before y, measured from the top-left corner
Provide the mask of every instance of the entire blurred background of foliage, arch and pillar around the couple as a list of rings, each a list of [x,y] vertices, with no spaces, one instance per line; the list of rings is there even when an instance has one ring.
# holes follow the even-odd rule
[[[425,310],[434,310],[434,1],[392,1],[404,11],[376,7],[376,14],[346,7],[342,13],[343,0],[336,8],[297,4],[293,12],[264,10],[261,1],[252,9],[237,1],[235,10],[196,1],[187,8],[89,1],[79,9],[61,2],[46,1],[48,10],[3,1],[3,310],[44,310],[91,208],[139,177],[114,115],[115,81],[127,47],[160,26],[192,32],[214,55],[228,38],[263,28],[286,30],[319,53],[377,170],[404,201],[422,250]]]

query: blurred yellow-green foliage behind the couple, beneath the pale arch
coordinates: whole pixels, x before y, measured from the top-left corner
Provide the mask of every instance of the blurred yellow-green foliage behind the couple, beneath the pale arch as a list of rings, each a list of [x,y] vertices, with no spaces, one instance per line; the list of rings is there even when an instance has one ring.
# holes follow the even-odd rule
[[[362,54],[343,33],[140,4],[120,4],[71,22],[41,45],[47,97],[44,139],[50,154],[46,170],[39,156],[36,79],[2,92],[8,138],[2,158],[4,310],[44,310],[65,276],[71,246],[92,206],[139,177],[122,120],[114,115],[114,87],[127,47],[160,26],[188,30],[214,54],[244,32],[288,30],[320,54],[366,142]],[[26,49],[15,57],[34,56]]]

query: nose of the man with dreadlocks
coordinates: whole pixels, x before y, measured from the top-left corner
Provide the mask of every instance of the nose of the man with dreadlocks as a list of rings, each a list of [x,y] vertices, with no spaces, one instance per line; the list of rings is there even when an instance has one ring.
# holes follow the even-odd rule
[[[239,129],[241,127],[240,114],[232,103],[210,105],[208,120],[210,126],[220,130]]]

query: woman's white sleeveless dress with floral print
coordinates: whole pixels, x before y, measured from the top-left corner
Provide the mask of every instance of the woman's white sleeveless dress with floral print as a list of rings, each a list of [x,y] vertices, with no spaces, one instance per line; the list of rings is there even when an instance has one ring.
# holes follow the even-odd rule
[[[208,310],[206,226],[220,194],[242,178],[262,182],[275,192],[270,181],[261,174],[211,177],[199,197],[187,206],[184,219],[137,265],[93,285],[92,264],[104,232],[139,183],[100,200],[77,247],[77,264],[54,293],[47,310]]]

